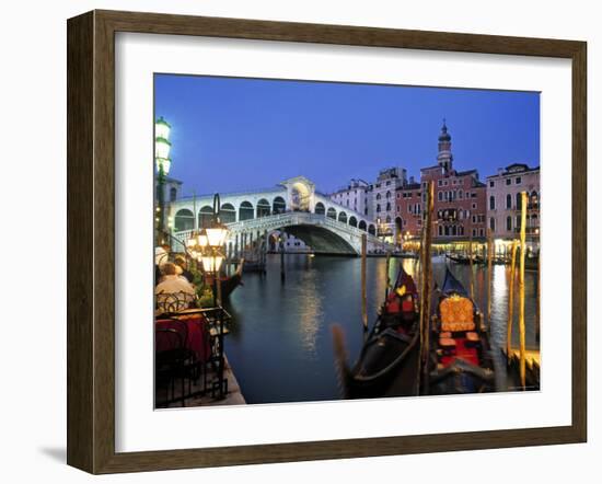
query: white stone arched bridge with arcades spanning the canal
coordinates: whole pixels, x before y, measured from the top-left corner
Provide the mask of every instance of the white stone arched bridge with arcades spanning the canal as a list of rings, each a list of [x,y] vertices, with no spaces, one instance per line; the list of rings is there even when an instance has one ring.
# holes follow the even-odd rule
[[[193,231],[208,226],[212,201],[212,195],[172,201],[169,209],[174,237],[185,241]],[[230,229],[229,243],[238,246],[243,241],[283,230],[315,253],[359,254],[362,234],[367,234],[368,251],[393,249],[375,237],[373,221],[320,194],[303,176],[286,180],[269,189],[220,194],[220,219]]]

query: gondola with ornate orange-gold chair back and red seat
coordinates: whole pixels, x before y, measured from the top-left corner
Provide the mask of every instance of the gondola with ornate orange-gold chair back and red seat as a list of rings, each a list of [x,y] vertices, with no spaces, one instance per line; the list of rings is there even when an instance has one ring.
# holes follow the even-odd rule
[[[421,393],[495,391],[491,347],[483,316],[449,268],[432,320],[431,366],[428,385],[422,387]]]

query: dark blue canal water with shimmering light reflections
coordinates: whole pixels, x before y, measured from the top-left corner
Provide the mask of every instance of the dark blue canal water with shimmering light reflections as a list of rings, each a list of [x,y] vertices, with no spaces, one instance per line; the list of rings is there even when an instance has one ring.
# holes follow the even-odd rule
[[[268,255],[267,275],[245,274],[244,286],[231,296],[233,315],[225,353],[247,403],[338,400],[331,325],[338,323],[346,335],[350,361],[363,341],[359,258],[309,255],[286,256],[286,280],[280,280],[280,257]],[[414,260],[392,258],[390,277],[398,264],[417,270]],[[445,263],[433,260],[433,277],[443,283]],[[454,275],[470,287],[470,266],[451,264]],[[384,257],[370,257],[368,319],[371,325],[385,291]],[[475,299],[487,308],[487,267],[475,266]],[[517,283],[518,284],[518,283]],[[516,285],[517,287],[517,285]],[[536,273],[525,275],[526,345],[535,345]],[[518,292],[514,300],[513,341],[518,345]],[[491,289],[491,345],[506,345],[508,270],[494,266]],[[498,352],[495,352],[496,354]],[[499,361],[498,361],[499,364]],[[497,365],[499,372],[503,365]],[[499,374],[501,378],[502,374]]]

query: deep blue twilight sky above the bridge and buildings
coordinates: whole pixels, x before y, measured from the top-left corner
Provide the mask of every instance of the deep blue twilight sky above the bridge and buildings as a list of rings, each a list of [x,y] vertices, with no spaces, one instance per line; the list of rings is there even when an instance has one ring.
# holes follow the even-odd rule
[[[484,180],[540,164],[540,95],[155,74],[155,117],[171,125],[170,176],[184,195],[270,187],[303,175],[321,192],[403,166],[436,164],[442,119],[454,168]]]

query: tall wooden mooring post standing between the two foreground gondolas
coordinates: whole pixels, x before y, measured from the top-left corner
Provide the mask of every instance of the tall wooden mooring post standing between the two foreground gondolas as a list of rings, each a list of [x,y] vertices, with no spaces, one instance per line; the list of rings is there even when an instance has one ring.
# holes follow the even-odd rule
[[[424,227],[421,284],[420,284],[420,365],[422,369],[422,393],[429,393],[429,343],[430,343],[430,244],[432,238],[433,182],[428,182],[426,199],[426,218]]]

